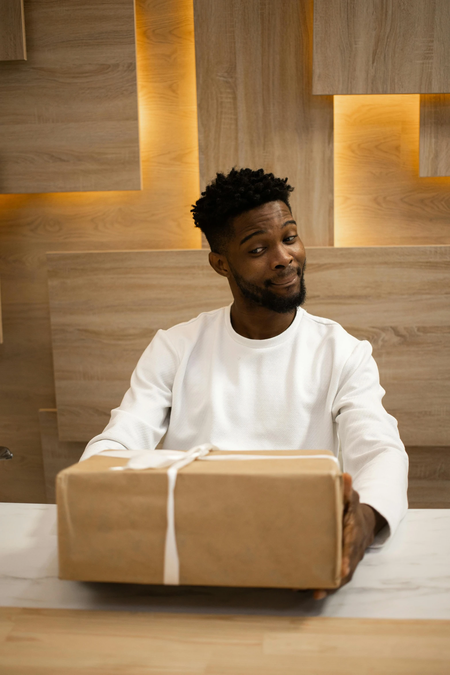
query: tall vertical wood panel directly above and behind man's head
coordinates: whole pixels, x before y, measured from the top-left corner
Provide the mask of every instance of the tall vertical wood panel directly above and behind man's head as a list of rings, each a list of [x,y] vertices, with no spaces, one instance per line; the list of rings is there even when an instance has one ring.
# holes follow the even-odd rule
[[[333,245],[333,99],[312,96],[312,0],[194,0],[200,186],[273,171],[308,246]]]

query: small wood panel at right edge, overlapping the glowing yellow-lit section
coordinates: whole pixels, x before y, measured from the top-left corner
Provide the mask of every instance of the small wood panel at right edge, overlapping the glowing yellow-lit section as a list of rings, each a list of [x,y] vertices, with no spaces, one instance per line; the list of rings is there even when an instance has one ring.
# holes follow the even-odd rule
[[[419,175],[450,175],[450,95],[420,97]]]

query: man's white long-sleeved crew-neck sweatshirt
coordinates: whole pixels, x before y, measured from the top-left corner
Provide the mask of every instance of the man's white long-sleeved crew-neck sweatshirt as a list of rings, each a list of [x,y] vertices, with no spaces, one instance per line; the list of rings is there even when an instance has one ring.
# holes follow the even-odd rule
[[[407,510],[407,454],[369,342],[299,309],[287,330],[249,340],[230,306],[159,330],[131,387],[82,460],[101,452],[213,443],[221,450],[331,450],[392,534]],[[386,528],[378,543],[389,536]]]

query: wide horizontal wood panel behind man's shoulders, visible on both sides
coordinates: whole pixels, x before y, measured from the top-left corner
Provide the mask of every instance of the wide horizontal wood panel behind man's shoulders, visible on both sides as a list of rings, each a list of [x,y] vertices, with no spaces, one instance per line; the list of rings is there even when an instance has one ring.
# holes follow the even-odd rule
[[[307,310],[369,340],[407,445],[450,444],[450,246],[308,248]],[[228,304],[207,251],[53,253],[59,437],[109,421],[158,328]],[[161,276],[164,284],[161,285]]]

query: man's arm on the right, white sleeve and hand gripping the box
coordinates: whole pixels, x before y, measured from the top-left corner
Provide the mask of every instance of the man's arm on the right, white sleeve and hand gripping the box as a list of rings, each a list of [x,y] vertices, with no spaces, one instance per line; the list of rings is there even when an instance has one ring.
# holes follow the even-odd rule
[[[367,547],[393,534],[407,510],[407,454],[397,422],[383,408],[384,394],[372,348],[359,342],[345,363],[333,406],[345,472],[341,585]],[[316,599],[325,595],[314,592]]]

